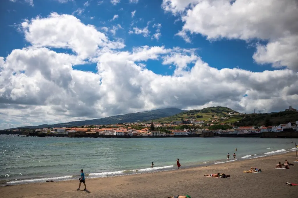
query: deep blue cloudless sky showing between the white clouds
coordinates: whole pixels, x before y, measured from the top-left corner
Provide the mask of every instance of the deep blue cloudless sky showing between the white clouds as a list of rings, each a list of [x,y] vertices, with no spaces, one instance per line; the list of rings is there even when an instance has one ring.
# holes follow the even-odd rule
[[[88,2],[88,7],[84,6],[86,2]],[[174,36],[181,30],[182,22],[181,20],[175,22],[179,17],[165,13],[161,4],[162,0],[139,0],[137,4],[129,3],[129,0],[122,0],[117,5],[111,4],[109,0],[76,0],[62,4],[59,3],[58,0],[44,0],[34,1],[34,7],[32,7],[22,0],[15,3],[7,0],[1,3],[1,17],[5,19],[3,23],[1,23],[1,29],[7,29],[7,31],[0,33],[1,38],[6,38],[3,41],[3,46],[5,47],[0,50],[0,56],[5,57],[13,49],[28,45],[24,40],[24,36],[16,32],[15,27],[12,26],[14,23],[21,23],[26,18],[35,18],[38,15],[46,17],[51,12],[58,12],[70,15],[73,14],[83,23],[92,24],[98,28],[104,26],[112,27],[113,25],[120,24],[124,29],[117,31],[115,37],[120,37],[125,40],[125,49],[127,50],[131,50],[134,46],[139,45],[164,45],[166,48],[173,48],[175,46],[180,46],[181,48],[198,48],[197,52],[202,60],[218,69],[239,67],[255,72],[273,70],[269,64],[258,65],[255,63],[252,55],[256,49],[251,46],[254,42],[226,39],[209,41],[200,34],[194,34],[192,35],[192,43],[186,43],[181,37]],[[78,9],[83,9],[84,11],[78,15],[78,13],[75,12]],[[136,10],[135,16],[131,18],[131,12],[134,10]],[[119,18],[110,21],[114,15],[119,15]],[[94,18],[91,19],[91,17]],[[153,33],[155,29],[152,25],[154,23],[162,24],[160,30],[162,37],[157,41],[151,40],[150,37],[143,37],[142,35],[128,34],[128,30],[131,27],[130,24],[134,21],[137,21],[136,24],[139,28],[144,28],[147,26],[148,21],[153,21],[148,28],[150,32]],[[113,35],[110,33],[109,36]],[[266,43],[266,41],[263,42]],[[159,61],[152,61],[147,64],[147,67],[158,74],[173,74],[173,69],[161,65]],[[93,65],[87,68],[80,68],[80,66],[78,66],[76,68],[94,72],[96,66]]]

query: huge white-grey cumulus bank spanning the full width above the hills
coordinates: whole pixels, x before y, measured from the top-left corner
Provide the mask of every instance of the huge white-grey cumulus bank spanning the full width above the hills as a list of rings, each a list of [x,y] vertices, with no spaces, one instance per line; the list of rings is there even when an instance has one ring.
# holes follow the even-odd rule
[[[29,45],[0,57],[0,128],[165,107],[221,105],[241,112],[270,112],[298,106],[298,73],[293,70],[218,70],[204,62],[196,49],[122,50],[122,41],[111,40],[73,15],[51,13],[25,20],[21,29]],[[149,70],[148,60],[162,61],[161,67],[172,65],[173,76]],[[90,63],[96,63],[96,72],[76,70],[76,65]]]

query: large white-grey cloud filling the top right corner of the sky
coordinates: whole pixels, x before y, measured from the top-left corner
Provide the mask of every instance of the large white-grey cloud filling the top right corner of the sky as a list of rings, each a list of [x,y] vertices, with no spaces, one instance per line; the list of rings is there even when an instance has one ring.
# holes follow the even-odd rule
[[[256,62],[298,71],[296,0],[164,0],[162,7],[181,14],[184,25],[176,35],[187,42],[187,32],[202,34],[208,40],[267,41],[258,45],[253,56]]]

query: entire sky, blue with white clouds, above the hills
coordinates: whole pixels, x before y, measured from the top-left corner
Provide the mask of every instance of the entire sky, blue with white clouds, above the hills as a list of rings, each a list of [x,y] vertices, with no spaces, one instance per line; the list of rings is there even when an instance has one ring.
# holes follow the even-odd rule
[[[296,0],[1,0],[0,129],[298,108]]]

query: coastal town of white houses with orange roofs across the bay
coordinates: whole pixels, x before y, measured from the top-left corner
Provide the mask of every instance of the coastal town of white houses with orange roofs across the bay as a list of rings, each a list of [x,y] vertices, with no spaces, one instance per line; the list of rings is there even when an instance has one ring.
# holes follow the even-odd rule
[[[143,128],[141,128],[143,126]],[[156,130],[152,130],[152,127]],[[189,127],[191,126],[191,127]],[[92,127],[92,128],[91,128]],[[182,130],[166,129],[158,130],[160,128],[179,128],[185,127]],[[203,128],[202,128],[203,127]],[[136,128],[141,128],[137,130]],[[263,132],[282,132],[282,131],[297,131],[298,132],[298,121],[295,123],[284,123],[278,126],[242,126],[237,127],[231,125],[229,129],[222,130],[210,130],[204,128],[203,124],[187,125],[183,123],[123,123],[115,125],[94,125],[94,126],[81,126],[81,127],[63,127],[63,128],[42,128],[35,129],[35,132],[40,133],[53,133],[53,134],[64,134],[71,137],[73,134],[96,134],[98,136],[185,136],[190,134],[202,134],[204,132],[213,132],[217,134],[253,134]],[[21,131],[20,129],[13,130],[15,132]]]

